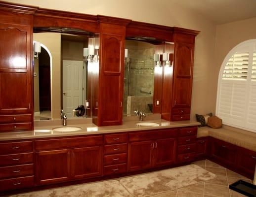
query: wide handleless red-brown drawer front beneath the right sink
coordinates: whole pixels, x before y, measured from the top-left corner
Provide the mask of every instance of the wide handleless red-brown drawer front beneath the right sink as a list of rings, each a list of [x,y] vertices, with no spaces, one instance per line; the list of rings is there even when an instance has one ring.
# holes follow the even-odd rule
[[[160,131],[143,131],[129,133],[129,141],[145,141],[164,138],[172,138],[177,136],[177,129],[168,129]]]

